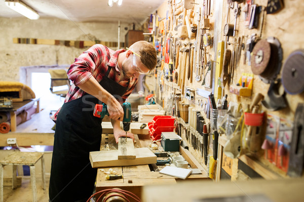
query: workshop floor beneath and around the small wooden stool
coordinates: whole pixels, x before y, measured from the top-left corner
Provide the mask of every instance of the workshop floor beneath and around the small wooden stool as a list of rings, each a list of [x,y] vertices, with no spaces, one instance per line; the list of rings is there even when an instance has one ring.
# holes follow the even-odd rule
[[[36,177],[36,186],[37,186],[37,201],[39,202],[48,202],[49,201],[49,183],[50,175],[46,175],[46,190],[42,189],[42,178]],[[4,192],[4,201],[8,202],[32,202],[32,189],[30,176],[22,177],[21,187],[17,189],[12,189],[11,186],[5,186],[3,188]]]

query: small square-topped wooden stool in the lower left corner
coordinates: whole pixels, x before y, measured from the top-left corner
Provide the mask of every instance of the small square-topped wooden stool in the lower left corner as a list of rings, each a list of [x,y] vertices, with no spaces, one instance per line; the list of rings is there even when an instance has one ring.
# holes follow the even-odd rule
[[[37,192],[36,192],[36,178],[35,178],[35,164],[41,158],[41,167],[42,167],[42,182],[43,189],[46,189],[46,181],[45,181],[45,165],[44,165],[44,153],[42,152],[19,152],[14,151],[9,154],[4,159],[0,160],[1,164],[1,198],[0,201],[3,202],[3,177],[4,177],[4,167],[6,165],[13,165],[13,184],[12,187],[15,189],[17,187],[17,166],[18,165],[26,165],[30,168],[30,176],[31,176],[31,185],[33,192],[33,201],[37,201]]]

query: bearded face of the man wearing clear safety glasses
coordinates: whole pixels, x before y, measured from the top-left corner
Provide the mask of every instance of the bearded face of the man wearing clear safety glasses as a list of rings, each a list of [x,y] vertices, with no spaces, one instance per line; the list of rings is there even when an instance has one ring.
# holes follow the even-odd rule
[[[126,59],[123,61],[122,69],[126,78],[138,78],[139,74],[149,72],[149,69],[141,63],[140,58],[132,54],[132,52],[127,54]]]

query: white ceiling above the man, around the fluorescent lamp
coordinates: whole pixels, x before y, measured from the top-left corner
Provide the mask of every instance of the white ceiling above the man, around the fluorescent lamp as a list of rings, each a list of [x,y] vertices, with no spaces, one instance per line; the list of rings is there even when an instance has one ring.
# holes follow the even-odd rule
[[[74,22],[121,22],[141,25],[166,0],[123,0],[122,6],[107,5],[108,0],[22,0],[41,17]],[[0,0],[0,17],[20,18],[19,13]],[[25,18],[25,17],[24,17]]]

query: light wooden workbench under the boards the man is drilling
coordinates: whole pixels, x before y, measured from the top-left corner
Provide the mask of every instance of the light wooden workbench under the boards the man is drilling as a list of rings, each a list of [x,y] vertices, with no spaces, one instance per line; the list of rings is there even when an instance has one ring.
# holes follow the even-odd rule
[[[149,135],[135,135],[135,140],[135,148],[148,147],[148,144],[152,142]],[[117,149],[117,144],[115,143],[115,139],[112,134],[102,134],[101,150],[105,148],[106,144],[109,145],[109,149]],[[161,151],[161,145],[159,142],[158,144],[158,151]],[[181,180],[175,177],[160,174],[159,172],[151,172],[151,165],[99,168],[97,171],[96,192],[109,188],[121,188],[123,190],[131,191],[138,197],[141,197],[141,190],[144,185],[176,184],[180,181],[210,180],[205,169],[200,166],[198,161],[186,149],[180,147],[180,153],[188,161],[192,168],[200,169],[202,174],[189,175],[186,180]],[[158,159],[164,159],[164,157],[158,157]],[[159,166],[159,169],[161,170],[163,167],[165,166]],[[118,174],[122,174],[124,178],[117,180],[105,180],[106,174],[102,172],[102,169],[106,172],[109,169],[113,169]]]

